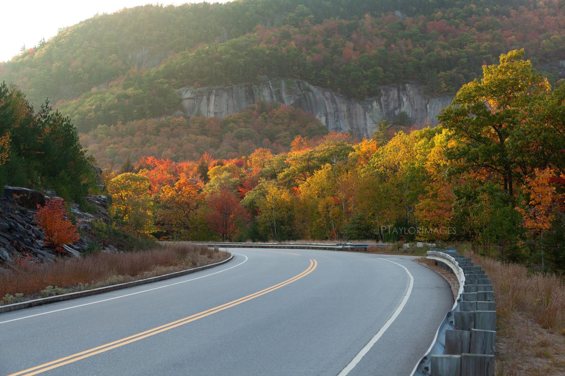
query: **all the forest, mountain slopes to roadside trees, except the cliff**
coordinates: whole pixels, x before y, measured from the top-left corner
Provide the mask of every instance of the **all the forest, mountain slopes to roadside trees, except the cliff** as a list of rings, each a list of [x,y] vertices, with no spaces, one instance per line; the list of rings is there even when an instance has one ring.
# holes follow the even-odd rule
[[[62,29],[0,63],[2,183],[85,211],[107,194],[102,237],[468,241],[563,273],[562,3],[392,3],[144,6]],[[142,44],[160,46],[153,66],[124,52]],[[179,114],[181,87],[264,76],[355,100],[418,82],[454,100],[436,127],[399,113],[364,139],[276,102]]]

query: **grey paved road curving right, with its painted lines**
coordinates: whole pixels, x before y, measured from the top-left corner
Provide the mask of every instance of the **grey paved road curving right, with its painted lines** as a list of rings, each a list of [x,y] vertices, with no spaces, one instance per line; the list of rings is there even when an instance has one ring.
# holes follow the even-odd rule
[[[2,313],[0,375],[407,375],[453,304],[403,256],[232,251],[188,276]]]

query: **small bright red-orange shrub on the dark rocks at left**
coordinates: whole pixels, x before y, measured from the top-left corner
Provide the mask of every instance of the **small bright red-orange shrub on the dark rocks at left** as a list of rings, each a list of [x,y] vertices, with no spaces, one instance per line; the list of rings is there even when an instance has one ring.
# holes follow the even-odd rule
[[[65,251],[62,247],[64,244],[79,240],[76,226],[66,215],[67,210],[61,198],[49,200],[45,206],[37,205],[35,218],[45,233],[45,243],[59,252]]]

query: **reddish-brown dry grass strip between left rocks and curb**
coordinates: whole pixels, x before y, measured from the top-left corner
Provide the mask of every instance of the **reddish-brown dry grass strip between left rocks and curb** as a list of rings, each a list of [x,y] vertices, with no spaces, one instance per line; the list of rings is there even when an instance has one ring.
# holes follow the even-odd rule
[[[102,287],[215,263],[228,256],[204,245],[167,244],[131,253],[59,258],[54,263],[33,264],[20,260],[10,272],[0,275],[0,298],[6,294],[23,294],[30,298]],[[54,290],[53,286],[64,288]],[[18,300],[23,297],[19,295]],[[7,302],[5,299],[4,303]]]

